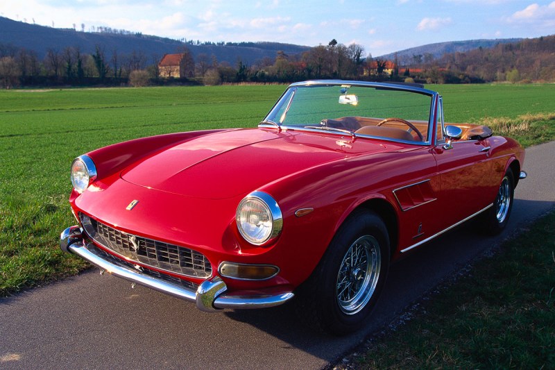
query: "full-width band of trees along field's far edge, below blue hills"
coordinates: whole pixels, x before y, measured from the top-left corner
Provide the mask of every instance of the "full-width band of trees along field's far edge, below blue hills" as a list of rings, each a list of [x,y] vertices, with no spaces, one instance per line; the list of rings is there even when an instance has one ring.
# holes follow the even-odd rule
[[[237,45],[248,47],[250,43]],[[365,56],[361,45],[345,46],[335,39],[303,53],[278,51],[275,58],[253,65],[240,59],[234,65],[219,62],[206,53],[193,56],[187,42],[178,53],[182,54],[180,78],[169,78],[160,73],[162,56],[146,56],[142,51],[119,53],[96,45],[93,53],[83,53],[78,47],[67,47],[48,49],[40,59],[35,51],[0,44],[0,87],[290,83],[314,78],[420,83],[555,80],[555,36],[445,54],[436,60],[431,55],[413,56],[410,65],[398,58]]]

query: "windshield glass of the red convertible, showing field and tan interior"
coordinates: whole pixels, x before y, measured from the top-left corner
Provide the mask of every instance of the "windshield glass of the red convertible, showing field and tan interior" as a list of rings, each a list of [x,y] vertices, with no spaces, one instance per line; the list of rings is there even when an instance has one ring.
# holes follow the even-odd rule
[[[402,142],[429,142],[432,95],[391,87],[289,87],[265,121],[287,128],[350,131]]]

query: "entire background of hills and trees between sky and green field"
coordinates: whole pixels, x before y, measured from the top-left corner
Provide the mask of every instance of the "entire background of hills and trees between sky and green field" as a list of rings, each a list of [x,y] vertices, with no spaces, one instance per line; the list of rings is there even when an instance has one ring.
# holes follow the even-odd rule
[[[432,44],[408,49],[423,55],[400,58],[394,53],[386,59],[372,58],[361,45],[345,46],[335,39],[327,45],[302,47],[171,40],[106,27],[90,32],[85,32],[84,25],[81,28],[57,29],[0,17],[0,87],[290,83],[316,78],[419,83],[555,81],[555,35],[513,43]],[[472,44],[480,46],[459,51]],[[495,46],[481,46],[487,44]],[[457,51],[435,58],[432,51],[438,45]],[[182,55],[179,78],[160,73],[158,62],[165,53]]]

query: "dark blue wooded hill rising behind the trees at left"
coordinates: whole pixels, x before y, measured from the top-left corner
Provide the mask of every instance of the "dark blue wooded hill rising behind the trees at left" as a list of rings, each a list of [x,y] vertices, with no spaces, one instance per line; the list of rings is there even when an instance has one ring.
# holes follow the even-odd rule
[[[164,53],[176,53],[183,45],[198,56],[216,56],[219,62],[235,65],[239,58],[242,62],[252,65],[263,58],[275,58],[278,51],[296,54],[306,51],[309,47],[278,42],[241,42],[239,44],[185,44],[164,37],[142,35],[140,33],[89,33],[66,28],[51,28],[16,22],[0,17],[0,44],[36,51],[39,58],[44,58],[48,49],[63,51],[67,47],[78,47],[83,53],[94,53],[96,45],[104,48],[108,56],[113,51],[119,55],[142,52],[148,58],[160,58]],[[1,47],[1,45],[0,45]]]

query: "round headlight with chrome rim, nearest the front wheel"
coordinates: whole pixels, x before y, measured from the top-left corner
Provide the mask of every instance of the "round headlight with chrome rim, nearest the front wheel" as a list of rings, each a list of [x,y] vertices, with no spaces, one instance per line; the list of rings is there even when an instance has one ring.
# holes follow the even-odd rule
[[[271,242],[280,235],[283,226],[278,203],[264,192],[248,194],[237,206],[235,220],[239,233],[255,245]]]

